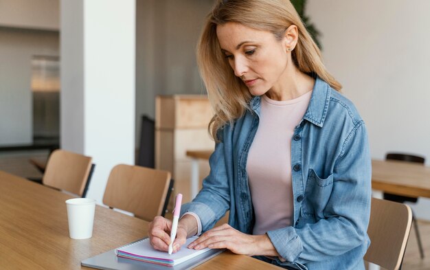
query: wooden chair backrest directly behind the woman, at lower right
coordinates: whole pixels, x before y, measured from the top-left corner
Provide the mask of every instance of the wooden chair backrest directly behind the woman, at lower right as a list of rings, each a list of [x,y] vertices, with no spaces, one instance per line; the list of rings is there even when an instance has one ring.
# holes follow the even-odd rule
[[[411,230],[411,208],[402,203],[372,198],[367,234],[370,247],[364,260],[388,270],[400,268]]]

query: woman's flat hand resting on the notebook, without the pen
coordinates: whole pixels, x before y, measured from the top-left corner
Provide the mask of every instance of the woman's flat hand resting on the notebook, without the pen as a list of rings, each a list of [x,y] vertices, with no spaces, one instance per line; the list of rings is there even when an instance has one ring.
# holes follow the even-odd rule
[[[235,254],[248,256],[279,256],[278,251],[273,247],[269,236],[266,234],[257,236],[243,234],[228,224],[210,229],[188,245],[190,249],[203,249],[205,247],[229,249]]]

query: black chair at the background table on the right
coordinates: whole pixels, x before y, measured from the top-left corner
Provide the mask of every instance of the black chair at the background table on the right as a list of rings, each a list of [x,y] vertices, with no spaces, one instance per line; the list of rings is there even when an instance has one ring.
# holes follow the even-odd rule
[[[403,153],[388,153],[385,156],[385,159],[387,160],[400,160],[400,161],[407,161],[407,162],[414,162],[418,164],[425,164],[425,158],[416,156],[416,155],[406,155]],[[418,198],[416,197],[410,197],[410,196],[401,196],[391,193],[384,192],[384,199],[389,201],[395,201],[397,203],[405,203],[406,201],[409,203],[416,203],[418,201]],[[418,223],[416,222],[414,212],[412,212],[412,221],[414,224],[415,229],[415,235],[416,235],[416,241],[418,243],[418,249],[420,250],[420,257],[424,258],[424,249],[422,249],[422,243],[421,243],[421,237],[420,237],[420,231],[418,230]]]

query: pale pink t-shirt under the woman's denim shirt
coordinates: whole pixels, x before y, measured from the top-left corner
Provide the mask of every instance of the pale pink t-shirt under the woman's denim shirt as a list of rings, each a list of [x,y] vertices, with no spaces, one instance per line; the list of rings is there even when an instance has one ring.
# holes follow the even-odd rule
[[[256,224],[253,234],[291,225],[291,138],[302,120],[312,91],[299,98],[275,101],[262,95],[260,124],[247,160]]]

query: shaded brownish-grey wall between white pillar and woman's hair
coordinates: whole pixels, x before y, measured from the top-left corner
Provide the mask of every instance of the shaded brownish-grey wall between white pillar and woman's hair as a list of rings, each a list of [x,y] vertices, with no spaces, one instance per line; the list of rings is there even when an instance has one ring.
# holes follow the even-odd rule
[[[195,47],[212,0],[137,0],[136,137],[140,115],[155,117],[155,96],[205,93]]]

